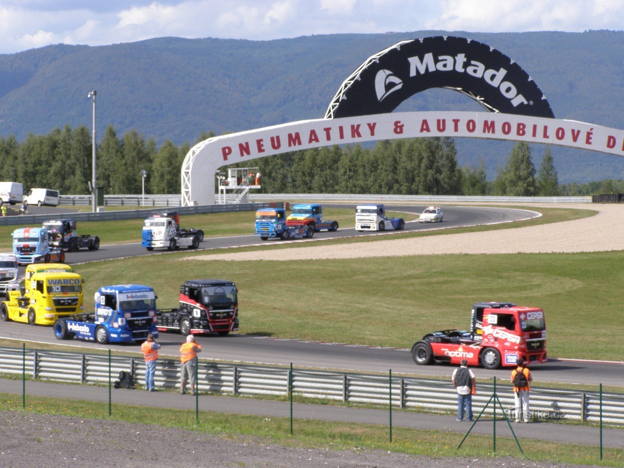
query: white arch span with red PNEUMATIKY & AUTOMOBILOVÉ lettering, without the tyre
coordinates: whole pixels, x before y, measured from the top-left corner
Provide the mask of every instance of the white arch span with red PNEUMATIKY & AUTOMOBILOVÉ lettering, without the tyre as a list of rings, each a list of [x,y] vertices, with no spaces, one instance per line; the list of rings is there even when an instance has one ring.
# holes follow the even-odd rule
[[[414,137],[510,140],[624,156],[624,130],[575,120],[454,111],[301,120],[213,137],[193,146],[182,164],[182,204],[214,204],[215,176],[224,165],[294,150]]]

